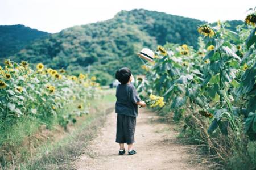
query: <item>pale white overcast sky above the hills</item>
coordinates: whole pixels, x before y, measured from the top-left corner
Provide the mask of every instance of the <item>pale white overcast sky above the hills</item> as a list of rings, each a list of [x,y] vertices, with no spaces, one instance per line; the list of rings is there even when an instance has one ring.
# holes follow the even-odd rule
[[[24,24],[51,33],[144,8],[214,22],[243,20],[254,0],[0,0],[0,25]]]

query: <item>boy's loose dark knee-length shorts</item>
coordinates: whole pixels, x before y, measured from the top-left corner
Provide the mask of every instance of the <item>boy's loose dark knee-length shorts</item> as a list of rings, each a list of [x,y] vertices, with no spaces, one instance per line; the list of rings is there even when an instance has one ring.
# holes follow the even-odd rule
[[[136,117],[117,114],[117,143],[134,143]]]

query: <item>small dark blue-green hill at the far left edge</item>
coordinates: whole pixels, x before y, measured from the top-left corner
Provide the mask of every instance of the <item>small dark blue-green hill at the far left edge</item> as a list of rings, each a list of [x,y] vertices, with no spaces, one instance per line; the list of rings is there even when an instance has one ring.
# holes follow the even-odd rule
[[[47,35],[47,32],[31,29],[20,24],[0,25],[0,59],[18,53],[30,42]]]

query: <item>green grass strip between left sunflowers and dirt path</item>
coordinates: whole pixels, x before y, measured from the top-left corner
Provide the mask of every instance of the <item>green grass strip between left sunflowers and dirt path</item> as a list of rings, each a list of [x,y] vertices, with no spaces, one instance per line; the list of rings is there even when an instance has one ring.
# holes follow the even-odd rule
[[[81,154],[82,148],[96,134],[98,125],[102,125],[105,121],[106,112],[111,110],[108,108],[113,109],[115,101],[113,92],[113,90],[104,90],[100,98],[88,101],[91,103],[93,113],[81,118],[77,117],[72,133],[67,133],[66,136],[55,142],[55,136],[47,137],[48,140],[44,139],[44,141],[34,140],[35,134],[40,134],[39,129],[42,126],[42,122],[38,122],[36,118],[23,118],[6,131],[1,128],[0,149],[1,151],[5,150],[5,155],[0,155],[0,169],[1,167],[3,169],[18,167],[22,167],[22,169],[59,169],[63,164],[69,167],[71,159]],[[76,104],[67,107],[65,112],[72,112],[74,109],[76,109]],[[51,121],[51,125],[46,126],[52,134],[59,133],[55,130],[59,126],[57,118],[55,119]],[[27,146],[28,143],[34,147],[32,151],[31,146]]]

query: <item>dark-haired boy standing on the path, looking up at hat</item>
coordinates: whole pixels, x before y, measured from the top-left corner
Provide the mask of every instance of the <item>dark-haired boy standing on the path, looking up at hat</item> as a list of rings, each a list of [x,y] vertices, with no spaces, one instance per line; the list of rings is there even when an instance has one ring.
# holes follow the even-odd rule
[[[125,154],[124,143],[128,145],[128,155],[136,154],[133,150],[134,132],[136,116],[138,115],[138,105],[146,107],[146,103],[141,101],[133,84],[131,84],[131,71],[123,67],[117,70],[115,78],[121,83],[117,86],[117,102],[115,103],[115,113],[117,113],[117,136],[115,142],[119,143],[119,155]]]

